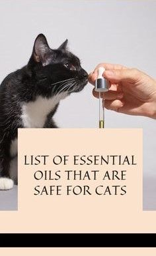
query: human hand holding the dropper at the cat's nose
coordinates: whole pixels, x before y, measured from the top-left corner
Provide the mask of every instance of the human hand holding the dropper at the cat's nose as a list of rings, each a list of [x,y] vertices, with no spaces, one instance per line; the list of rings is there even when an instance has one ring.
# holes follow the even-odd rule
[[[104,78],[109,80],[108,92],[102,92],[104,106],[109,110],[156,118],[156,80],[137,70],[119,64],[101,63],[89,74],[89,82],[95,84],[98,67],[103,66]],[[98,92],[93,89],[93,95]]]

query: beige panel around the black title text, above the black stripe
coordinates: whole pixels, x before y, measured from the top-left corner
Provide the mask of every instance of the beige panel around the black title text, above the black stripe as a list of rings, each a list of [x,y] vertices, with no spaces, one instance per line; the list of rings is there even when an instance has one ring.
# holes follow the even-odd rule
[[[128,193],[90,196],[34,196],[36,166],[24,166],[26,154],[135,155],[137,166],[124,166]],[[69,163],[68,168],[75,169]],[[115,166],[118,168],[118,166]],[[40,169],[45,166],[40,166]],[[49,162],[46,170],[55,170]],[[65,166],[59,166],[65,169]],[[104,167],[98,166],[101,172]],[[79,169],[79,166],[77,166]],[[91,169],[91,168],[88,168]],[[92,168],[94,170],[94,167]],[[109,165],[109,170],[114,166]],[[121,166],[120,168],[121,169]],[[58,167],[57,167],[58,170]],[[81,170],[87,170],[81,166]],[[96,167],[97,170],[97,167]],[[64,182],[64,183],[63,183]],[[70,184],[88,182],[71,182]],[[40,184],[45,185],[45,181]],[[52,181],[46,181],[46,185]],[[59,181],[62,186],[65,181]],[[91,187],[99,181],[89,182]],[[110,183],[111,184],[111,183]],[[116,182],[117,184],[117,182]],[[19,211],[0,212],[1,232],[155,232],[155,212],[142,211],[142,131],[141,129],[24,129],[19,130]]]

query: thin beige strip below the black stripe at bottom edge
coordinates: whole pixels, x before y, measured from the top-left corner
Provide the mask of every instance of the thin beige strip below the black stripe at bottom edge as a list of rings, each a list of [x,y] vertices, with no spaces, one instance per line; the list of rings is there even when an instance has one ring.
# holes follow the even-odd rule
[[[42,256],[79,256],[79,255],[89,255],[89,256],[155,256],[155,248],[1,248],[0,253],[3,256],[11,255],[16,256],[27,256],[29,253],[32,255]]]

